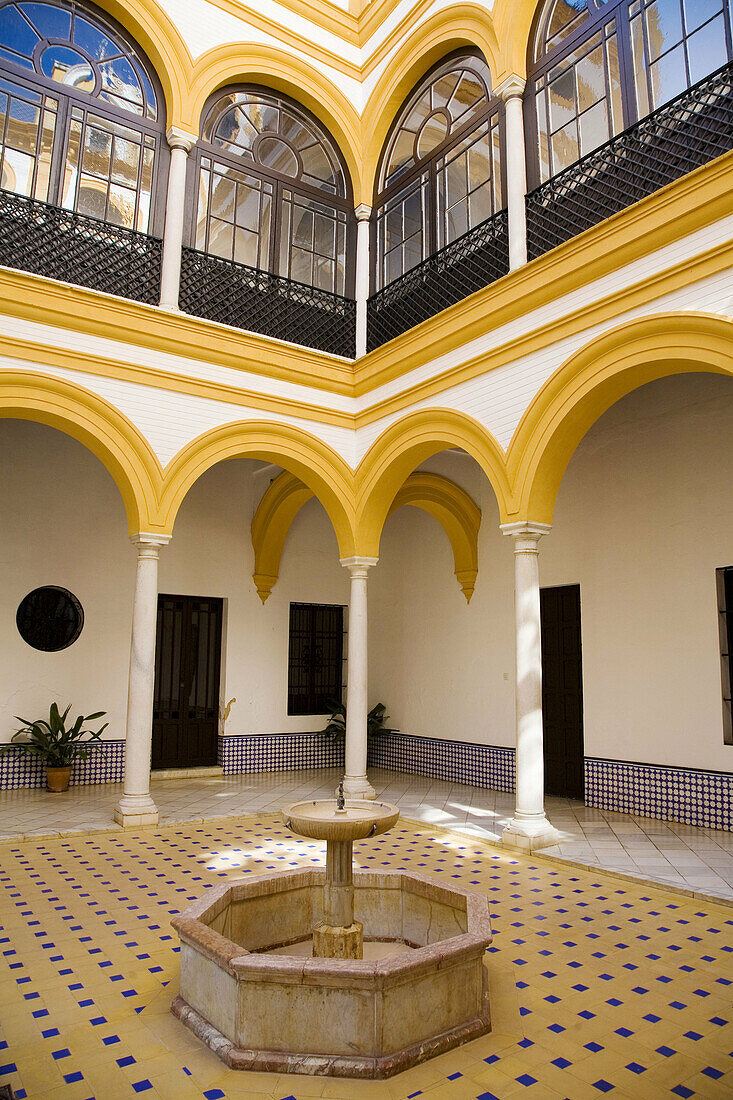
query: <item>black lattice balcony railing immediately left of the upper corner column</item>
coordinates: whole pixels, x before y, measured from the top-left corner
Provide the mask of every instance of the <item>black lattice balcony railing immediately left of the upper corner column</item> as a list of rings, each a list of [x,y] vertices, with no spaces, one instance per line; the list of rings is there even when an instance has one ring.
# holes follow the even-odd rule
[[[357,304],[196,249],[183,250],[179,305],[187,314],[353,359]]]

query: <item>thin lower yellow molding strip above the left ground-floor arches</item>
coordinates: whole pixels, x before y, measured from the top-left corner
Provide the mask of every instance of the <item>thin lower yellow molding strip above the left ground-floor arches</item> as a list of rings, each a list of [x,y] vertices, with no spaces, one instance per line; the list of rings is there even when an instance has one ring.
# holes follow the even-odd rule
[[[64,370],[95,374],[102,378],[122,378],[141,386],[153,386],[156,389],[167,389],[175,394],[190,394],[212,402],[227,402],[229,405],[240,405],[243,408],[262,409],[280,416],[296,417],[299,420],[314,420],[316,424],[328,424],[338,428],[353,430],[354,416],[350,413],[339,413],[322,408],[320,405],[309,405],[287,397],[273,397],[254,389],[242,389],[240,386],[228,386],[223,383],[207,382],[192,378],[187,374],[174,371],[162,371],[155,366],[144,366],[140,363],[125,363],[120,359],[107,359],[92,351],[50,346],[41,340],[21,340],[18,337],[7,337],[0,333],[0,355],[19,359],[28,363],[44,366],[59,366]]]

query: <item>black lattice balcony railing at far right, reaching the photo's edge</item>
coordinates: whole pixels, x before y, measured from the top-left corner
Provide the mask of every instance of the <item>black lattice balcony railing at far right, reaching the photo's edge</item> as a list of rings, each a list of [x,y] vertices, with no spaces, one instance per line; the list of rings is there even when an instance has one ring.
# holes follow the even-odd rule
[[[733,148],[733,65],[527,195],[530,260]]]

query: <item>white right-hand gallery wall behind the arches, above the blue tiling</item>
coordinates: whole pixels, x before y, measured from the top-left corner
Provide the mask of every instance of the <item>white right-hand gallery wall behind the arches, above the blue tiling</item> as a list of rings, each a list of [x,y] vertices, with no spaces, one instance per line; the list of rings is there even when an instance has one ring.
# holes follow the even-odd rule
[[[543,585],[580,584],[587,756],[733,771],[715,595],[733,565],[731,440],[733,385],[688,375],[628,395],[570,462],[539,562]],[[405,733],[511,745],[511,542],[471,460],[426,465],[483,510],[477,591],[467,608],[435,521],[396,513],[370,582],[370,696]]]

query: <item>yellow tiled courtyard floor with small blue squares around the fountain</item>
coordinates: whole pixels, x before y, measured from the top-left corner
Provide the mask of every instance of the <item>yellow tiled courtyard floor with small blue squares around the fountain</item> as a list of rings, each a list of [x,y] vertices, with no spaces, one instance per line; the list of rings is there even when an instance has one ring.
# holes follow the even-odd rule
[[[276,815],[0,844],[0,1081],[48,1100],[733,1094],[733,911],[407,821],[355,846],[490,899],[491,1034],[386,1082],[227,1070],[168,1012],[171,916],[319,862]]]

